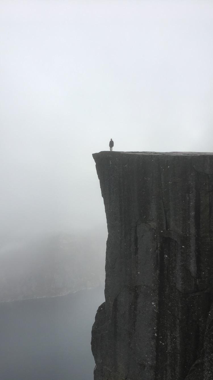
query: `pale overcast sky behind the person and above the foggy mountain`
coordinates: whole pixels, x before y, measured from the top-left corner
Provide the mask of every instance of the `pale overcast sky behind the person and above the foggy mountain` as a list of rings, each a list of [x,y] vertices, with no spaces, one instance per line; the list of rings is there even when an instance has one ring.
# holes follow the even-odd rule
[[[212,67],[212,0],[0,0],[2,232],[105,225],[110,138],[211,152]]]

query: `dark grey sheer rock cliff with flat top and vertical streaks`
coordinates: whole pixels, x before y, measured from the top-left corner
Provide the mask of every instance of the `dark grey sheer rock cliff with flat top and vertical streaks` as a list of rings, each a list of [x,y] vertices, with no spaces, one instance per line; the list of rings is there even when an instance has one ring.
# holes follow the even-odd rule
[[[93,155],[108,225],[95,380],[213,379],[213,155]]]

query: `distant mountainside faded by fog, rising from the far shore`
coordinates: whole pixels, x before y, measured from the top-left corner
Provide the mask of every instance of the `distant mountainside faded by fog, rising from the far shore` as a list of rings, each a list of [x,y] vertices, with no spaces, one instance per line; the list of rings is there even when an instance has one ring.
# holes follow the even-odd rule
[[[0,248],[0,302],[103,286],[104,234],[49,234]]]

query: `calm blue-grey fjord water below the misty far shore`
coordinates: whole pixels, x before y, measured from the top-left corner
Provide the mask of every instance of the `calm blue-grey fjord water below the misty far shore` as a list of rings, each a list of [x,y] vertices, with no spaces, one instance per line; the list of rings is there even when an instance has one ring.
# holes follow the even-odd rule
[[[103,288],[0,303],[1,380],[92,380],[91,327]]]

